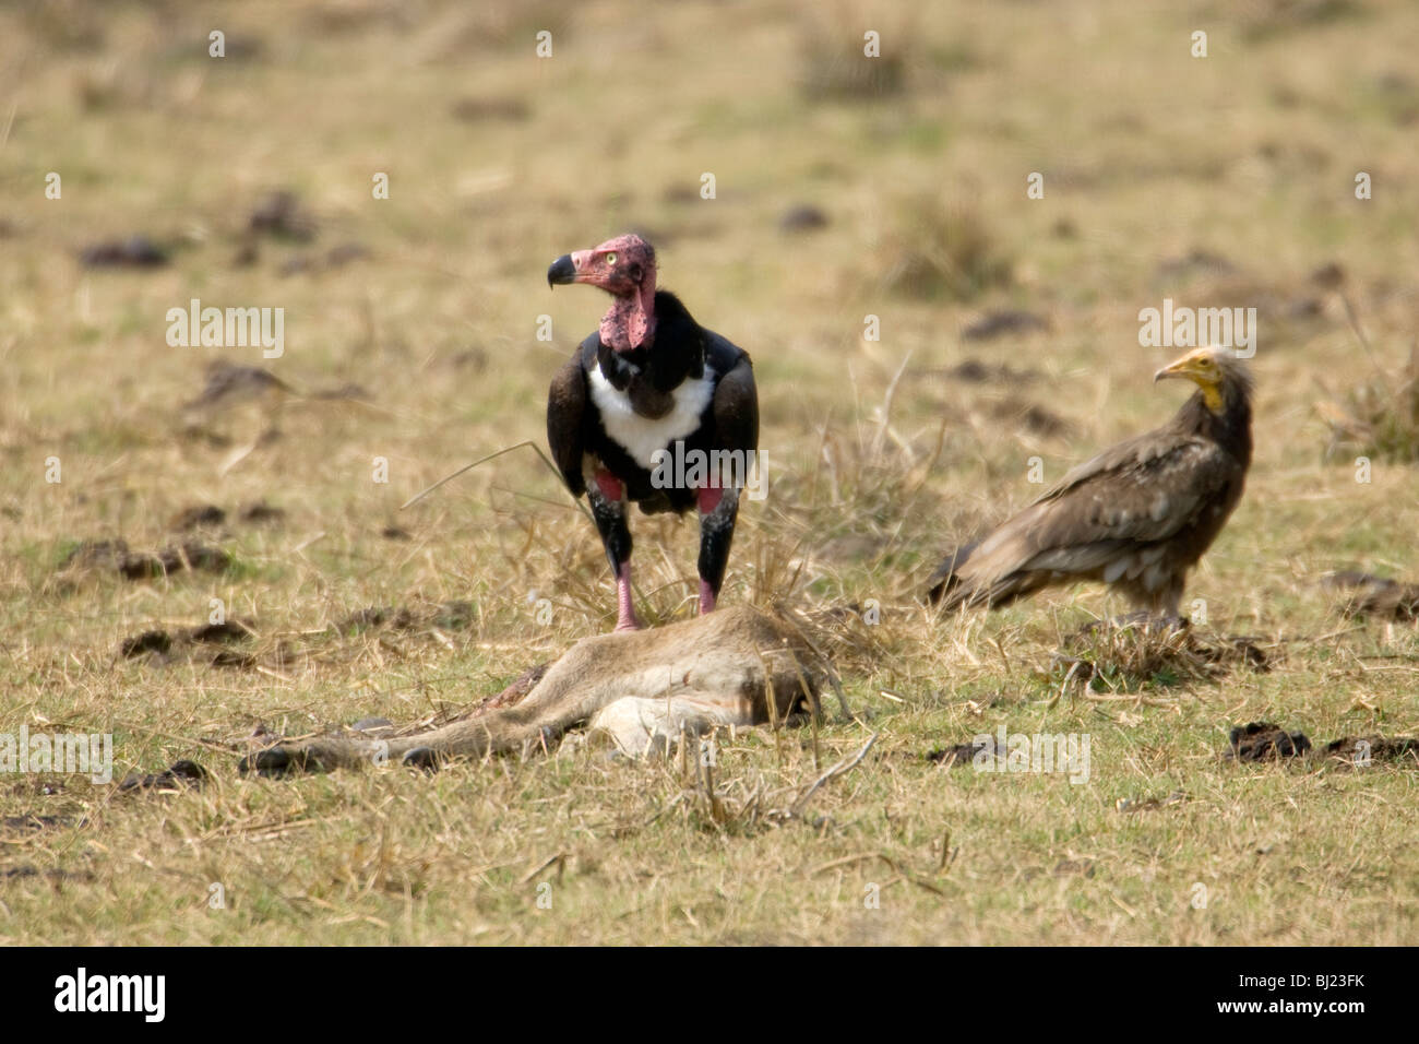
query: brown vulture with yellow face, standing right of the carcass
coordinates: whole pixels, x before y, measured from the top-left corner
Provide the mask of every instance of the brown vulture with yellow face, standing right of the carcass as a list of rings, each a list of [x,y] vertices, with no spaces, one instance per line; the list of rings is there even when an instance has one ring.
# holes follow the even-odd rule
[[[1252,376],[1226,348],[1198,348],[1154,375],[1198,392],[1162,428],[1080,464],[1044,496],[941,564],[929,598],[1006,605],[1095,580],[1152,615],[1178,616],[1188,570],[1242,499],[1252,463]]]

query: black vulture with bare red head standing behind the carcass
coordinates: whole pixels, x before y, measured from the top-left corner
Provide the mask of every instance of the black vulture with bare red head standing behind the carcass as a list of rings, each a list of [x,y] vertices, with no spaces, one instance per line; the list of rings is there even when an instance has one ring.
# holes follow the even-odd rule
[[[565,254],[546,280],[612,295],[600,330],[552,379],[546,436],[568,489],[590,503],[616,577],[616,629],[640,626],[629,504],[644,513],[698,509],[700,612],[710,612],[759,445],[749,357],[656,288],[656,250],[640,236]]]

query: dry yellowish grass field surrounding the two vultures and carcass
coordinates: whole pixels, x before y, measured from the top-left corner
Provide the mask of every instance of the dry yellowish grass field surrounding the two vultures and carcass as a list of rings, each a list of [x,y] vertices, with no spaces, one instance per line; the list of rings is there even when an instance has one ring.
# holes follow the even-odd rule
[[[1415,625],[1320,582],[1419,578],[1416,36],[1408,0],[0,6],[0,734],[115,761],[0,774],[0,942],[1419,940],[1412,760],[1220,757],[1247,722],[1419,734]],[[725,737],[712,797],[578,744],[238,776],[258,726],[446,717],[612,626],[531,449],[399,506],[543,442],[606,307],[546,267],[627,229],[755,359],[769,490],[724,602],[816,621],[853,719]],[[139,234],[169,263],[81,261]],[[170,347],[192,298],[284,308],[284,354]],[[1257,308],[1256,462],[1186,604],[1269,669],[1066,683],[1104,591],[942,615],[925,578],[1040,491],[1032,459],[1053,482],[1176,409],[1138,341],[1164,298]],[[973,339],[999,310],[1047,328]],[[280,385],[203,401],[214,362]],[[1335,435],[1361,385],[1384,452]],[[633,530],[641,612],[688,616],[692,520]],[[118,540],[194,568],[129,578]],[[184,642],[211,599],[244,629]],[[1002,726],[1087,733],[1088,781],[927,758]],[[179,758],[206,785],[115,785]]]

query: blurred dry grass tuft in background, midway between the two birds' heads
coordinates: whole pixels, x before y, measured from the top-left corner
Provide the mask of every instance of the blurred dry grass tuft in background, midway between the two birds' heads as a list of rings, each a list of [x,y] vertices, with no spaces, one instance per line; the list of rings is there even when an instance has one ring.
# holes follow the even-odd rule
[[[904,297],[972,301],[1009,286],[1013,264],[975,210],[918,196],[897,206],[877,271],[890,291]]]

